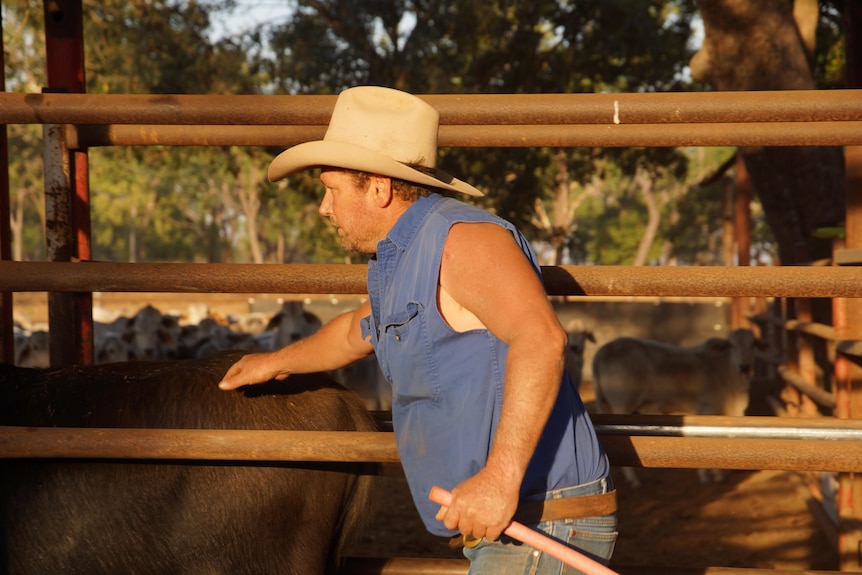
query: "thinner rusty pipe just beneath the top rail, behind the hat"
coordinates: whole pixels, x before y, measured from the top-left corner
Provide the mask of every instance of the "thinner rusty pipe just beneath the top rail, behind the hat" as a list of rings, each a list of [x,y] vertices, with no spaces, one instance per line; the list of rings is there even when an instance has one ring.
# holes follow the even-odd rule
[[[320,140],[324,126],[70,125],[70,149],[95,146],[277,146]],[[441,147],[845,146],[862,144],[862,122],[554,124],[441,126]]]

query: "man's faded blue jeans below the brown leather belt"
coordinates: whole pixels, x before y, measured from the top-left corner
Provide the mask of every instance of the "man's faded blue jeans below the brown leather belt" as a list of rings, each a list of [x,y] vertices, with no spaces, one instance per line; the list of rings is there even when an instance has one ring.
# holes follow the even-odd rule
[[[576,487],[549,491],[531,500],[594,495],[612,489],[613,484],[608,477]],[[605,565],[614,552],[617,540],[616,514],[546,521],[530,527]],[[559,559],[505,535],[499,541],[482,539],[475,547],[464,547],[464,556],[470,560],[468,575],[582,575],[581,571]]]

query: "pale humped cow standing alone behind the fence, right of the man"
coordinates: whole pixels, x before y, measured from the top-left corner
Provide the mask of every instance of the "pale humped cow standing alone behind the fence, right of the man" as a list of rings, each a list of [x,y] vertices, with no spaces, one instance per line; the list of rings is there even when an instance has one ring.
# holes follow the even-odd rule
[[[749,401],[751,368],[759,343],[747,329],[680,347],[619,337],[593,358],[596,405],[606,413],[741,416]],[[626,477],[639,485],[634,470]],[[699,470],[702,482],[721,477]]]

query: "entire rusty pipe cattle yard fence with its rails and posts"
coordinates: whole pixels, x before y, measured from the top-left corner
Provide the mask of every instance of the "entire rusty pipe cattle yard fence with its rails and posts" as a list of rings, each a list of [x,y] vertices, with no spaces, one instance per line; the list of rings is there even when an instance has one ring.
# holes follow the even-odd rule
[[[614,465],[785,469],[839,473],[843,501],[836,545],[842,571],[862,570],[862,92],[429,95],[441,113],[441,146],[848,146],[847,240],[831,266],[543,268],[551,295],[772,298],[792,313],[750,317],[772,334],[764,365],[789,384],[776,402],[786,417],[596,416]],[[104,145],[279,145],[322,137],[329,96],[0,94],[4,124],[44,125],[51,262],[0,261],[3,350],[12,346],[13,292],[49,292],[52,362],[92,357],[92,293],[198,292],[361,294],[365,266],[123,264],[88,260],[72,238],[88,218],[70,209],[89,190],[75,177],[87,148]],[[255,125],[254,130],[247,126]],[[191,129],[190,129],[191,127]],[[849,158],[856,158],[851,164]],[[2,160],[5,162],[5,158]],[[4,166],[5,167],[5,166]],[[852,168],[852,169],[850,169]],[[853,176],[853,174],[857,174]],[[850,177],[852,176],[852,177]],[[855,179],[854,179],[855,178]],[[8,196],[8,190],[2,193]],[[0,202],[0,210],[3,206]],[[7,208],[8,209],[8,208]],[[0,213],[0,221],[9,220]],[[54,219],[51,219],[54,218]],[[8,238],[8,234],[0,239]],[[89,242],[84,242],[89,245]],[[2,246],[0,246],[2,247]],[[8,253],[4,251],[2,253]],[[849,256],[849,257],[848,257]],[[842,265],[837,265],[842,264]],[[834,325],[806,315],[809,298],[832,301]],[[778,305],[778,304],[776,304]],[[89,334],[89,337],[88,337]],[[833,374],[815,369],[810,338],[830,342]],[[89,346],[89,355],[88,355]],[[10,357],[10,355],[6,355]],[[790,391],[788,391],[790,390]],[[812,399],[807,399],[812,398]],[[817,404],[814,403],[817,402]],[[249,451],[249,445],[255,450]],[[2,457],[395,462],[391,433],[373,434],[0,428]],[[854,475],[856,474],[856,475]],[[355,559],[353,573],[465,573],[466,563]],[[756,569],[623,568],[646,575],[754,573]],[[770,570],[770,572],[775,572]],[[779,572],[783,573],[783,572]],[[787,572],[790,573],[790,572]]]

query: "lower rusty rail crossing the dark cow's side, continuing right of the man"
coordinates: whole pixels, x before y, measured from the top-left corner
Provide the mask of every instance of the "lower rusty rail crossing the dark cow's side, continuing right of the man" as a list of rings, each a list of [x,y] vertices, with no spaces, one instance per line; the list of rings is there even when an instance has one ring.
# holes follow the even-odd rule
[[[862,471],[862,422],[857,421],[831,420],[828,426],[772,417],[597,415],[595,420],[613,465]],[[783,438],[775,438],[776,429],[783,430]],[[0,458],[399,461],[391,432],[0,426],[0,454]]]

